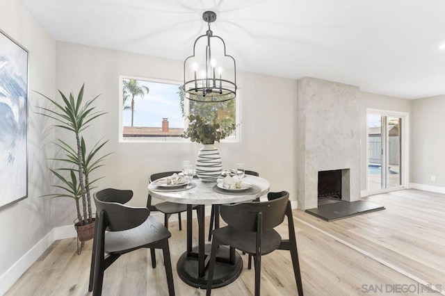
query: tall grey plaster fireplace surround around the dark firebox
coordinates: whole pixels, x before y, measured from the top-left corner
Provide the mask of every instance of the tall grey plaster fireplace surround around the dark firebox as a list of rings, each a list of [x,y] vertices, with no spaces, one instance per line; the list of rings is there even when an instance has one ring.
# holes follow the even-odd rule
[[[341,170],[341,199],[360,199],[359,88],[298,80],[296,176],[298,208],[318,206],[318,172]]]

